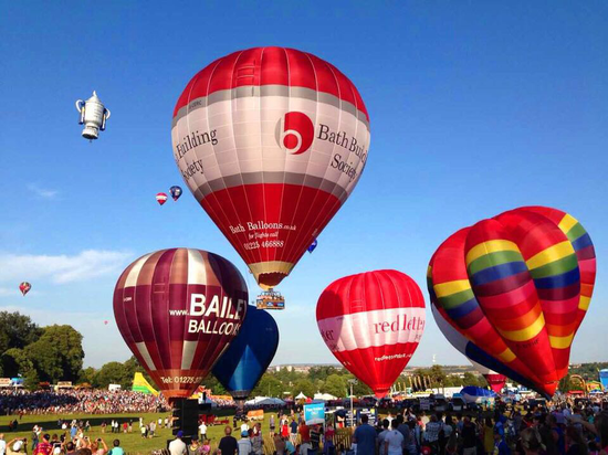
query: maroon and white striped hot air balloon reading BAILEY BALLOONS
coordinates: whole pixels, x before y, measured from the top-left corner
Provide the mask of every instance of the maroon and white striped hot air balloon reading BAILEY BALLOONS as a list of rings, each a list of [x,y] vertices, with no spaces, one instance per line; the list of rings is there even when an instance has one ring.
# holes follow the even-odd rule
[[[213,253],[171,248],[130,264],[114,290],[118,330],[169,400],[192,394],[247,313],[243,277]]]

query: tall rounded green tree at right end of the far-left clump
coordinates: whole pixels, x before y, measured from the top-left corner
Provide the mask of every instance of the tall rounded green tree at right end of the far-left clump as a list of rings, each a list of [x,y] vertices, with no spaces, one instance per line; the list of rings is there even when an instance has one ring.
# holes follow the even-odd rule
[[[43,381],[75,381],[82,370],[82,335],[72,326],[49,326],[25,355]]]

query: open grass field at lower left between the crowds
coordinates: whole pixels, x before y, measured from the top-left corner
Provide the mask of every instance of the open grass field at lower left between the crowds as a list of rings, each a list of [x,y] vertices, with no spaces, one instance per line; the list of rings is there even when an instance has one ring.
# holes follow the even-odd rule
[[[18,431],[9,432],[9,422],[14,419],[19,419],[15,415],[3,415],[0,416],[0,432],[4,433],[4,440],[7,442],[15,437],[27,437],[28,438],[28,453],[31,454],[31,438],[32,438],[32,428],[34,425],[40,425],[43,427],[44,433],[51,435],[62,434],[61,427],[57,426],[57,420],[64,419],[71,421],[72,419],[82,420],[83,422],[88,421],[91,424],[91,431],[86,435],[91,440],[96,440],[102,437],[108,447],[112,447],[112,441],[115,438],[120,440],[120,446],[129,455],[136,454],[149,454],[151,451],[157,448],[164,448],[167,445],[167,440],[172,438],[170,428],[160,428],[156,431],[156,435],[153,438],[143,438],[139,433],[139,416],[144,417],[144,423],[149,423],[151,421],[158,421],[159,417],[165,420],[166,416],[169,416],[168,413],[150,413],[150,414],[137,414],[137,413],[127,413],[127,414],[59,414],[59,415],[24,415],[21,421],[19,421]],[[276,414],[275,414],[276,416]],[[109,422],[112,419],[118,420],[123,423],[125,421],[133,420],[133,433],[109,433]],[[266,419],[262,423],[262,432],[264,434],[269,433],[269,419],[270,413],[266,413]],[[106,422],[108,427],[106,433],[102,433],[102,422]],[[232,424],[232,415],[230,415],[230,423]],[[219,440],[223,436],[223,425],[208,426],[207,436],[211,440],[211,446],[214,447],[219,443]],[[237,438],[239,436],[234,434]]]

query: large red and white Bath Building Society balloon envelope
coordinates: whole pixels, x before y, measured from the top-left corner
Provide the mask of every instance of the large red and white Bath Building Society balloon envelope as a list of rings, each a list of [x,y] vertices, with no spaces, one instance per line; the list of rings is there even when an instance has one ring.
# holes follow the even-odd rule
[[[263,289],[290,274],[367,161],[369,116],[315,55],[254,47],[216,60],[179,97],[174,158]]]

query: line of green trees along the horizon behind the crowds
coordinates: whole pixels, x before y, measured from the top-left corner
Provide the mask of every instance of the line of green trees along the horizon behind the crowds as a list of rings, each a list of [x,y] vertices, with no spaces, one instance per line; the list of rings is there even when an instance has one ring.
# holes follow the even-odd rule
[[[113,361],[101,368],[83,369],[82,338],[69,325],[39,327],[29,316],[19,311],[0,311],[0,377],[21,375],[25,388],[32,390],[38,389],[40,382],[57,381],[85,383],[101,389],[109,384],[120,384],[128,390],[136,372],[141,372],[153,383],[135,357],[125,362]],[[570,374],[579,374],[587,381],[597,380],[598,371],[604,368],[608,368],[608,362],[573,366],[568,375],[560,381],[559,390],[567,392],[579,388],[572,382]],[[307,372],[287,368],[271,369],[262,375],[251,395],[285,398],[302,392],[306,396],[313,396],[321,392],[345,398],[350,394],[350,385],[356,396],[373,393],[360,381],[350,384],[349,381],[354,379],[346,369],[337,366],[316,366]],[[211,389],[214,394],[228,393],[212,374],[203,380],[202,385]],[[463,385],[488,387],[488,383],[482,375],[472,372],[448,374],[436,364],[401,374],[395,382],[394,390],[417,391]]]

